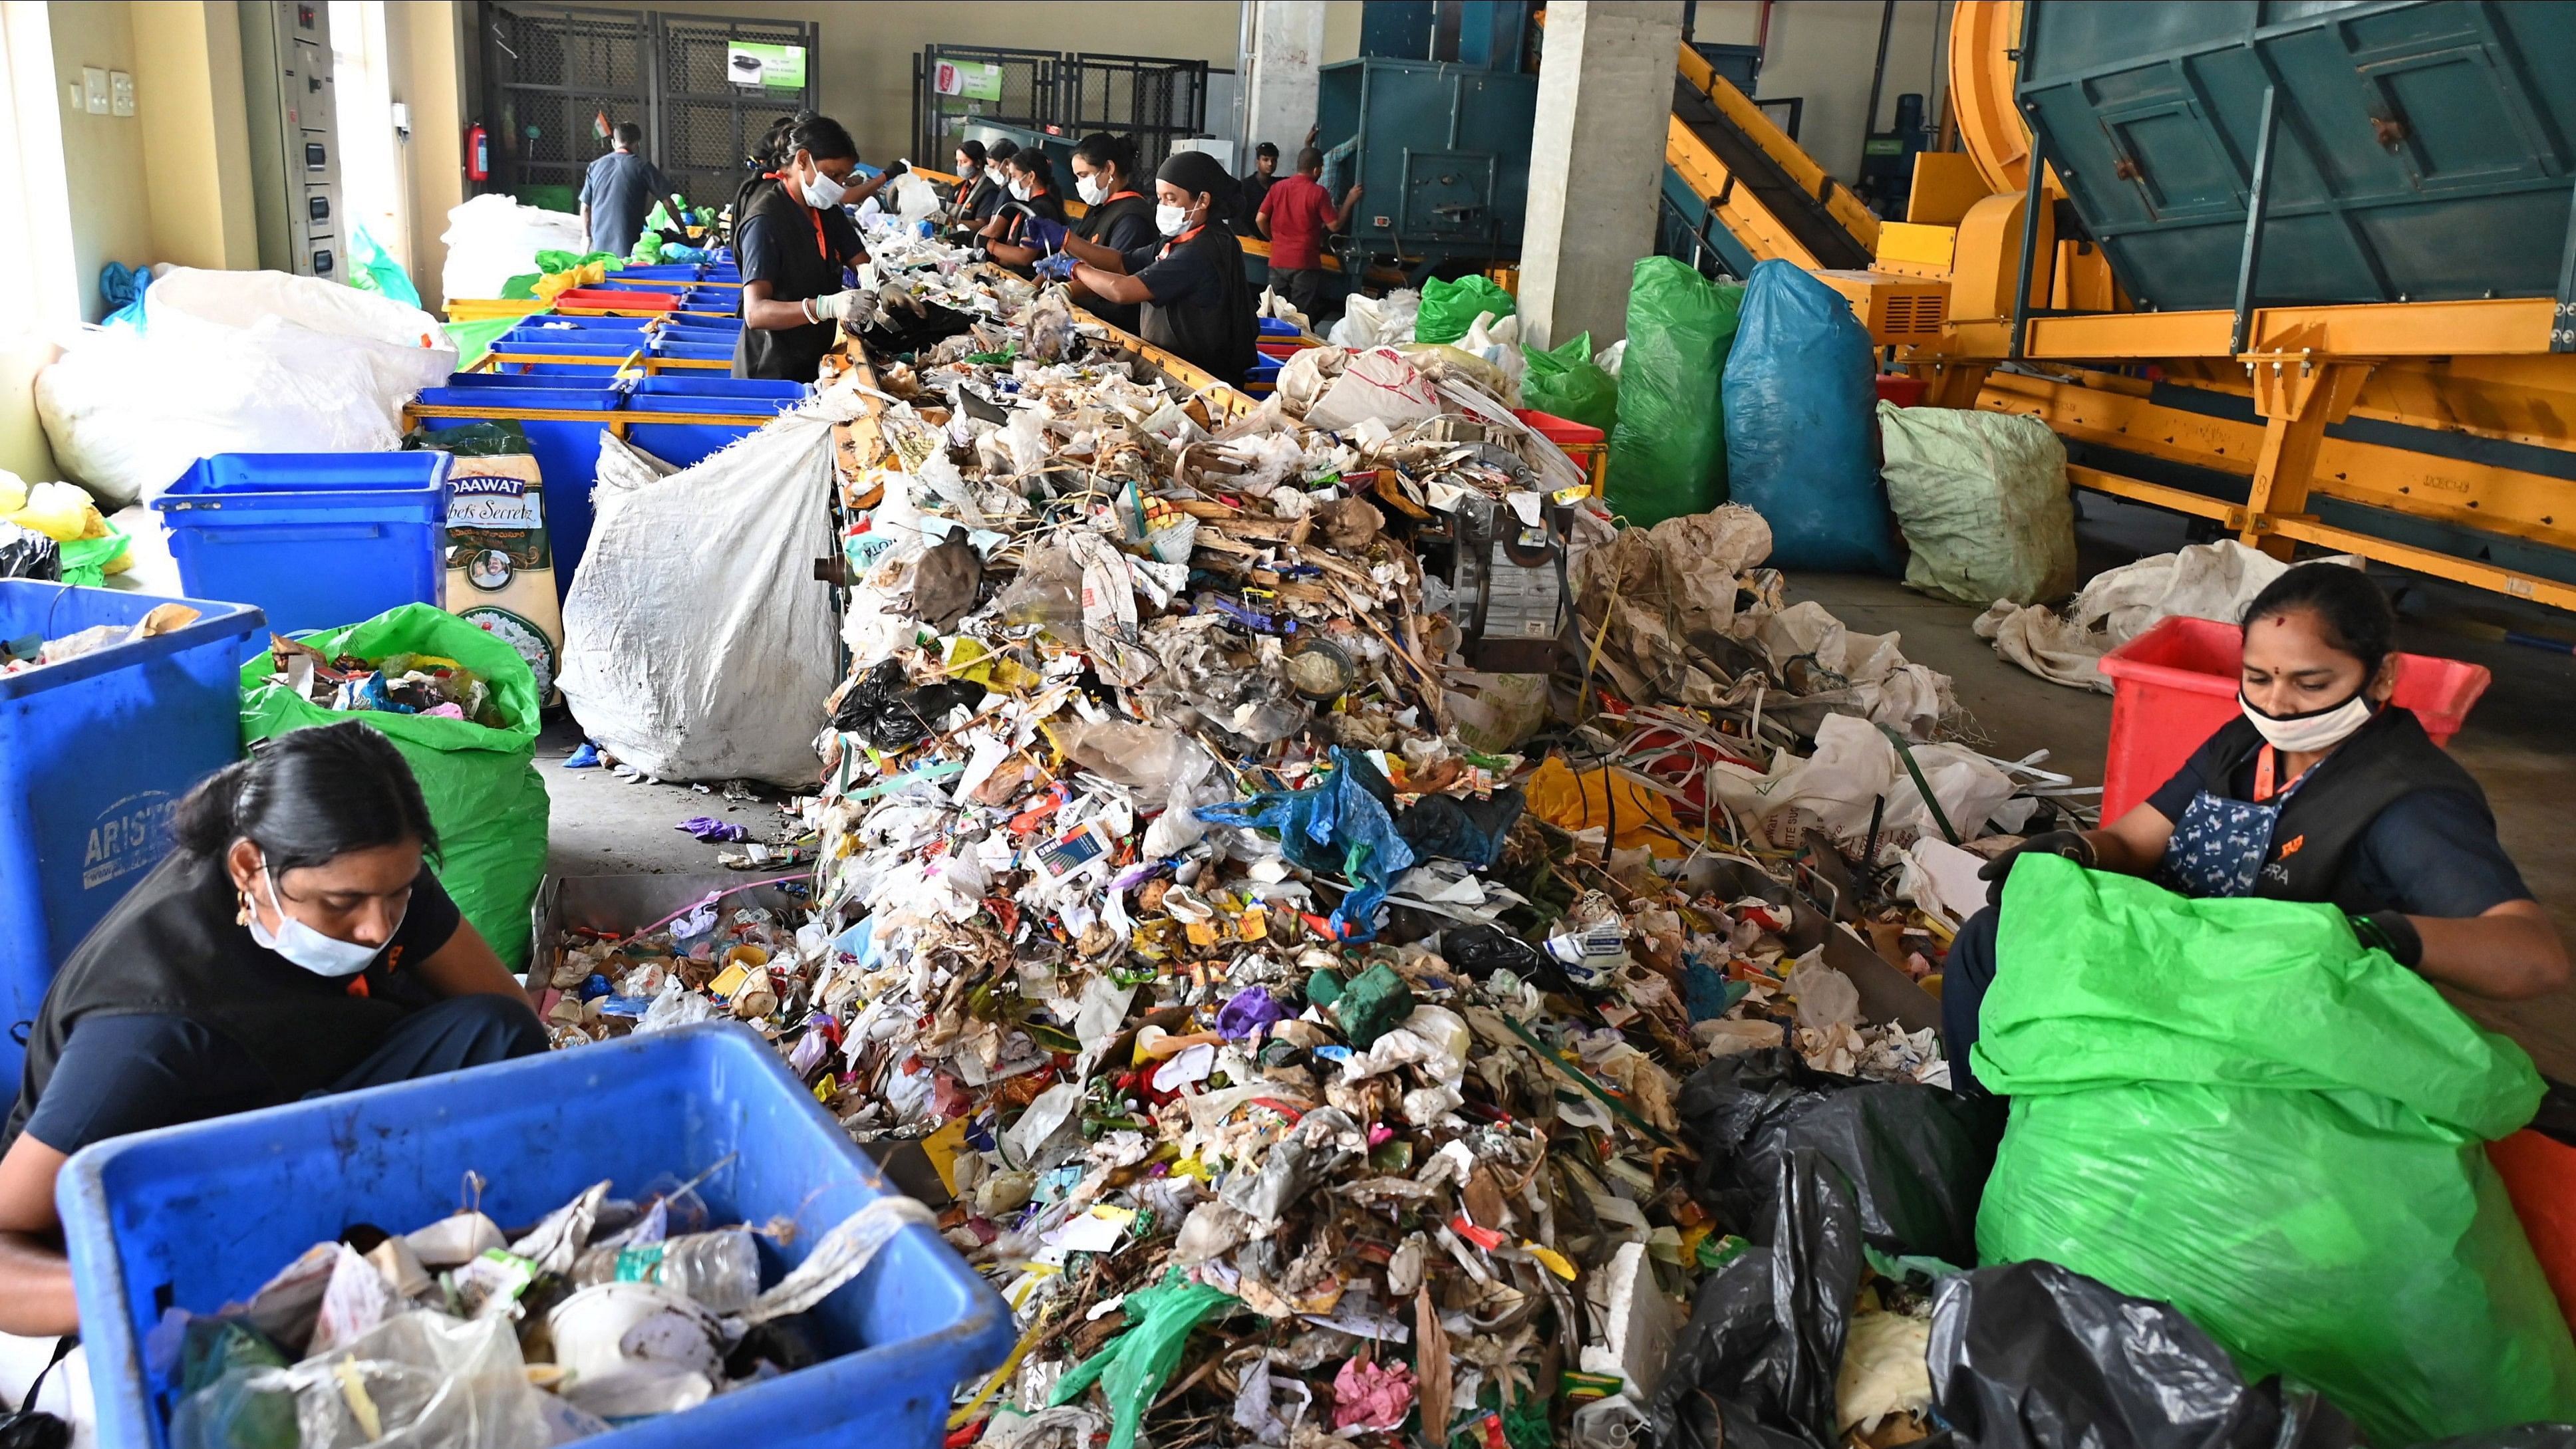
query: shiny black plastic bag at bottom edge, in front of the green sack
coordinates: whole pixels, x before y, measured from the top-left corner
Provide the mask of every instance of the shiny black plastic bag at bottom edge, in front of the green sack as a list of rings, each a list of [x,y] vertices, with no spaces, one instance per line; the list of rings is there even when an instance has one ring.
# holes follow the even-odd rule
[[[1942,1279],[1932,1403],[1960,1449],[2352,1449],[2334,1405],[2280,1380],[2246,1385],[2179,1307],[2025,1261]],[[2558,1449],[2553,1439],[2483,1439]],[[2465,1441],[2452,1441],[2468,1449]],[[2445,1449],[2452,1449],[2445,1446]]]

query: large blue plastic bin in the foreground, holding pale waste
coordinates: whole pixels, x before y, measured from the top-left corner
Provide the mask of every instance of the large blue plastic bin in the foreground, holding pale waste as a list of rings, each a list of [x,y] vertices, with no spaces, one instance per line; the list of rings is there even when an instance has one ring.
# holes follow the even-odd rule
[[[137,1132],[85,1148],[54,1189],[98,1441],[167,1444],[175,1390],[142,1354],[162,1305],[211,1313],[247,1300],[304,1248],[353,1223],[394,1230],[456,1210],[466,1168],[505,1230],[611,1179],[639,1194],[693,1176],[716,1220],[788,1217],[762,1241],[775,1282],[835,1223],[896,1189],[796,1086],[775,1048],[732,1022],[626,1037],[399,1086]],[[1002,1364],[1015,1331],[930,1228],[904,1228],[804,1318],[824,1361],[701,1408],[587,1439],[603,1449],[760,1444],[938,1449],[958,1382]]]

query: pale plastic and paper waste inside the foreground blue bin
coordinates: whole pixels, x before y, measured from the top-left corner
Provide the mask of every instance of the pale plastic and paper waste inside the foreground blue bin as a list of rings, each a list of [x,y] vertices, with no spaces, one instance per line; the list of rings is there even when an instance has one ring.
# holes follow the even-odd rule
[[[567,1444],[817,1361],[801,1315],[930,1215],[884,1197],[762,1287],[760,1235],[690,1181],[608,1181],[505,1233],[464,1207],[412,1233],[314,1243],[247,1302],[173,1307],[147,1351],[178,1382],[180,1449]],[[469,1174],[479,1186],[479,1179]]]

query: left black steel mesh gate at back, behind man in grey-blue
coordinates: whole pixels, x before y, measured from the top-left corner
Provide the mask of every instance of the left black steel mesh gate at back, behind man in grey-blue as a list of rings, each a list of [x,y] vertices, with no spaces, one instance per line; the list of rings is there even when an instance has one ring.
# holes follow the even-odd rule
[[[605,113],[644,126],[644,154],[690,201],[724,206],[752,142],[814,106],[814,23],[531,3],[484,5],[482,18],[492,185],[520,201],[574,206],[608,149],[595,129]],[[734,85],[732,41],[804,46],[806,85]]]

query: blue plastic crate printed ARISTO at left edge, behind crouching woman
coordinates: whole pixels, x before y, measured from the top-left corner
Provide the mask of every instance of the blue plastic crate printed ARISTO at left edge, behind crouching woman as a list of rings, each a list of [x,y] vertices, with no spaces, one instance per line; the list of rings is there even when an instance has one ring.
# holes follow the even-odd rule
[[[170,852],[178,798],[240,757],[240,669],[268,638],[252,605],[0,579],[0,638],[142,623],[167,602],[204,618],[0,674],[0,1027],[36,1019],[54,968]],[[0,1032],[13,1094],[23,1058]]]

